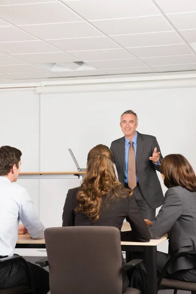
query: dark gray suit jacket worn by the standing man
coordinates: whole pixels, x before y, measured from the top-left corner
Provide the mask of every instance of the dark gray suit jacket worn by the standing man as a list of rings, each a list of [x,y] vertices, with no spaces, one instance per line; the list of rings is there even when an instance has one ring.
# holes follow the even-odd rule
[[[152,208],[161,206],[164,198],[156,174],[156,170],[160,172],[160,166],[153,164],[149,160],[155,147],[157,147],[157,152],[159,152],[160,148],[155,137],[138,132],[136,172],[142,193]],[[114,156],[119,181],[124,184],[124,137],[113,141],[110,149]],[[160,154],[160,160],[162,159],[163,157]]]

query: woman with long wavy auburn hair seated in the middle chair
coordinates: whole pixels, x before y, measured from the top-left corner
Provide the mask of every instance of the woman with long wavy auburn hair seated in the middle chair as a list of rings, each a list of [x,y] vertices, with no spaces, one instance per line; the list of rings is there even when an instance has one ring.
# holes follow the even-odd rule
[[[123,220],[132,231],[124,240],[148,242],[149,232],[132,192],[117,180],[111,150],[97,145],[88,153],[87,172],[80,187],[68,191],[63,209],[63,226],[114,226],[121,230]],[[128,279],[123,276],[123,292]]]

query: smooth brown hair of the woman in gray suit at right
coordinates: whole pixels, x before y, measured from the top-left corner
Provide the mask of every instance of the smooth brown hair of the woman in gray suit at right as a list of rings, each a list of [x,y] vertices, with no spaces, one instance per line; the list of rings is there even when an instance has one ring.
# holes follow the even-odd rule
[[[196,192],[196,174],[181,154],[169,154],[161,162],[161,173],[164,174],[164,184],[167,188],[181,186],[191,192]]]

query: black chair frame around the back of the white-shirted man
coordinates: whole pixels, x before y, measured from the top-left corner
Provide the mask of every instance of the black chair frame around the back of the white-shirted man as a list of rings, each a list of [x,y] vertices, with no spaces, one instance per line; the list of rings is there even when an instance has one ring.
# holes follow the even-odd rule
[[[0,265],[5,264],[7,262],[16,261],[16,260],[20,260],[22,263],[25,264],[26,271],[28,273],[28,277],[29,277],[31,286],[20,285],[20,286],[16,286],[16,287],[12,287],[12,288],[0,289],[0,294],[27,294],[27,293],[28,294],[36,294],[31,270],[29,268],[28,263],[26,262],[26,260],[22,256],[20,256],[18,254],[14,254],[13,256],[10,256],[10,257],[0,258]]]

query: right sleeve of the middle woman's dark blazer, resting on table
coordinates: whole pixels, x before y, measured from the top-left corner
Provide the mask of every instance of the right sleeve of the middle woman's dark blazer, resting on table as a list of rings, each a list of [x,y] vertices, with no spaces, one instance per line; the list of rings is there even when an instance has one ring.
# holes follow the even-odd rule
[[[131,231],[121,232],[122,241],[149,242],[150,234],[147,225],[135,201],[134,196],[129,198],[129,210],[126,221],[130,223]]]

